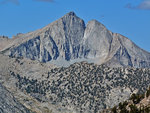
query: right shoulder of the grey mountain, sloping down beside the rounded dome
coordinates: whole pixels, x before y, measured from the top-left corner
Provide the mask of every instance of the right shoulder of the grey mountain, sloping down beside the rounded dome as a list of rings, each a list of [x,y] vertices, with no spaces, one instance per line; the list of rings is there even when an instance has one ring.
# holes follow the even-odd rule
[[[130,67],[148,68],[150,67],[150,53],[139,48],[128,38],[113,34],[110,49],[109,65],[122,65]]]

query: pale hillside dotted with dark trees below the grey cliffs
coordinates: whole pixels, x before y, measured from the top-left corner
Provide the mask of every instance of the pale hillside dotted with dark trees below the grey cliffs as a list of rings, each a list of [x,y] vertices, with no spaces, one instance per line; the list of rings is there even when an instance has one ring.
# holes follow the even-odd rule
[[[57,68],[0,55],[0,82],[34,112],[97,113],[142,93],[150,69],[110,68],[86,62]]]

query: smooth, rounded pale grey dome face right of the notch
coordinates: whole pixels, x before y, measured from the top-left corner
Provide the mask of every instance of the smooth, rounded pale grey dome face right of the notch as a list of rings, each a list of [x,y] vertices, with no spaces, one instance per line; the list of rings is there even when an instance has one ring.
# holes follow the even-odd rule
[[[96,20],[88,22],[83,37],[86,58],[99,58],[103,62],[108,56],[112,36],[104,25]]]

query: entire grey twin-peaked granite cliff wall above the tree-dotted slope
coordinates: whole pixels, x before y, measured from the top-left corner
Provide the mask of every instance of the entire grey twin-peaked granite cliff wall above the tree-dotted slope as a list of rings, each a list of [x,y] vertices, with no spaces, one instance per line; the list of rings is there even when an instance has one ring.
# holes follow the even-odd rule
[[[12,57],[26,57],[61,66],[90,61],[117,67],[150,67],[150,53],[128,38],[110,32],[96,20],[85,26],[74,12],[42,29],[18,35],[1,51]]]

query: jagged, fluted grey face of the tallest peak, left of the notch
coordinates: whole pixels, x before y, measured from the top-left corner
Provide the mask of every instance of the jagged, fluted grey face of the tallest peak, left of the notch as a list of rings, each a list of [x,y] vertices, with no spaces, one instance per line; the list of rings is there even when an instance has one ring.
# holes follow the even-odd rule
[[[67,61],[76,59],[82,54],[80,50],[84,30],[84,21],[70,12],[41,30],[23,35],[30,39],[15,43],[8,55],[42,62],[59,58]]]

